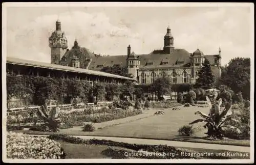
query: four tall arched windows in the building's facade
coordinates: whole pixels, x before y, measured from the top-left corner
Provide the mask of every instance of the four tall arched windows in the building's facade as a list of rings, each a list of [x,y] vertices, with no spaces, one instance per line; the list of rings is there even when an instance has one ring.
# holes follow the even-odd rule
[[[172,83],[177,83],[177,77],[178,77],[178,74],[176,72],[173,72],[171,75],[170,75],[170,80]],[[156,73],[155,72],[152,72],[151,73],[151,84],[156,80]],[[188,82],[188,77],[187,77],[187,72],[184,71],[182,73],[182,82],[183,83],[187,83]],[[142,72],[141,73],[141,84],[146,84],[146,73]]]

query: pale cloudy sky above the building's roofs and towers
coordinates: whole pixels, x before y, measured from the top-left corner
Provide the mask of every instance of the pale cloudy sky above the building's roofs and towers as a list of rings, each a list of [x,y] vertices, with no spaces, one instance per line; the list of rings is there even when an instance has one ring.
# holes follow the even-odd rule
[[[129,44],[137,54],[162,49],[169,25],[176,48],[217,54],[220,46],[222,64],[254,56],[250,7],[37,6],[7,8],[8,57],[50,62],[48,38],[57,19],[69,48],[77,39],[80,46],[100,54],[126,54]]]

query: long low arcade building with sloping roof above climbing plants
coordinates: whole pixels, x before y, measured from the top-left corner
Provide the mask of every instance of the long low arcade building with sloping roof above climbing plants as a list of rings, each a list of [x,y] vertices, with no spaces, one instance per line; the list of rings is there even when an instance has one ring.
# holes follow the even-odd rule
[[[56,78],[59,77],[86,79],[92,85],[94,82],[110,82],[123,84],[126,80],[136,81],[136,79],[134,78],[124,77],[120,75],[95,70],[49,64],[11,57],[7,57],[6,70],[9,74],[15,75],[34,75]]]

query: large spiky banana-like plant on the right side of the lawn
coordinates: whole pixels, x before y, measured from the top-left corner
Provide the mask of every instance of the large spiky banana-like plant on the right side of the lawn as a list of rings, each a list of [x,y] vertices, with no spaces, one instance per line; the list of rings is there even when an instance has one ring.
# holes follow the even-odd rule
[[[240,132],[240,130],[232,125],[228,125],[228,121],[238,122],[236,119],[232,118],[231,102],[226,103],[225,108],[221,110],[220,106],[222,104],[221,98],[218,103],[214,102],[214,105],[211,105],[210,99],[206,96],[206,99],[209,104],[209,115],[206,115],[202,112],[197,111],[195,115],[200,115],[202,118],[197,119],[189,124],[195,124],[199,122],[205,122],[205,128],[207,128],[207,135],[209,137],[213,137],[214,139],[222,139],[223,138],[223,128],[236,129]],[[215,101],[215,100],[214,100]]]

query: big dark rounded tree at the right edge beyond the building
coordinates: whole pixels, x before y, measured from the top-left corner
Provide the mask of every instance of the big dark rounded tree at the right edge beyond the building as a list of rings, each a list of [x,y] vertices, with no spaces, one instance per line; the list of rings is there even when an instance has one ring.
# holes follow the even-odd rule
[[[221,73],[220,82],[234,93],[241,91],[245,99],[250,99],[250,58],[231,59]]]

